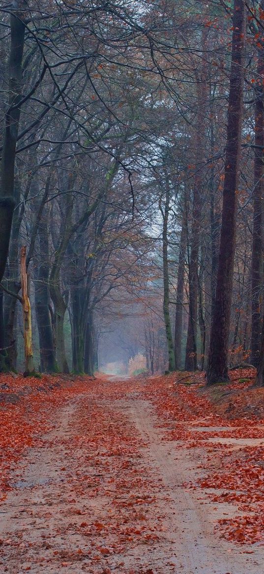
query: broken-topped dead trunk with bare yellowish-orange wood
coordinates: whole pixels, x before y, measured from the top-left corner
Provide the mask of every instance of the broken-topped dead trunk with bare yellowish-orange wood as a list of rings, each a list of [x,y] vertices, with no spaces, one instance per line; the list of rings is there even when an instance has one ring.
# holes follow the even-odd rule
[[[31,305],[28,293],[28,282],[26,272],[26,247],[21,247],[21,286],[22,286],[22,307],[24,321],[24,346],[25,346],[25,375],[34,374],[34,359],[32,347],[32,324]]]

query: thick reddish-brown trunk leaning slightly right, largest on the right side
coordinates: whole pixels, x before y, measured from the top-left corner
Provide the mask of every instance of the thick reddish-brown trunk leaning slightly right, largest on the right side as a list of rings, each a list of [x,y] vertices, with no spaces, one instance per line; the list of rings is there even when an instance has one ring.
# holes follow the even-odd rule
[[[245,33],[245,0],[235,0],[230,92],[228,98],[227,146],[224,166],[222,228],[207,366],[208,385],[229,380],[227,369],[228,336],[233,288],[237,187],[241,149]]]

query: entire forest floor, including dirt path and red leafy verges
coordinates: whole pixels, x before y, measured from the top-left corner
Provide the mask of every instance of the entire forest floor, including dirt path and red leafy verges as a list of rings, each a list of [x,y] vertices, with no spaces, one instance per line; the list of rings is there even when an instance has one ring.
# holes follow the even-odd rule
[[[261,574],[252,370],[0,377],[0,573]]]

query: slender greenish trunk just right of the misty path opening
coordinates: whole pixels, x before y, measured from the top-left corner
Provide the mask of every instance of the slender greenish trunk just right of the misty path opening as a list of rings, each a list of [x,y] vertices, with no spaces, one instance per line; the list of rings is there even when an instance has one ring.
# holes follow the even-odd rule
[[[175,309],[175,338],[174,338],[174,354],[175,354],[175,369],[180,369],[182,366],[182,324],[183,324],[183,297],[184,297],[184,272],[185,272],[185,255],[187,247],[187,209],[183,205],[183,218],[182,230],[180,232],[180,253],[178,262],[178,278],[177,278],[177,292],[176,292],[176,309]]]

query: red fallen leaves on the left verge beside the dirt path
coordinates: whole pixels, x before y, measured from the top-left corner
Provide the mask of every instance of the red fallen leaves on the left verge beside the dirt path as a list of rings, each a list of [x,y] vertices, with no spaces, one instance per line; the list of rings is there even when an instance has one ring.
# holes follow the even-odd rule
[[[78,379],[77,379],[78,380]],[[40,436],[49,428],[49,410],[59,406],[74,393],[87,389],[80,378],[77,387],[62,377],[31,377],[25,379],[13,374],[0,375],[0,500],[4,500],[10,490],[10,471],[26,449],[36,445]],[[92,379],[90,379],[92,380]],[[64,393],[61,392],[62,387]],[[48,412],[46,398],[48,400]]]

